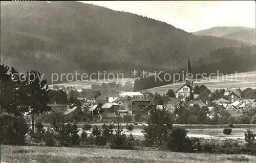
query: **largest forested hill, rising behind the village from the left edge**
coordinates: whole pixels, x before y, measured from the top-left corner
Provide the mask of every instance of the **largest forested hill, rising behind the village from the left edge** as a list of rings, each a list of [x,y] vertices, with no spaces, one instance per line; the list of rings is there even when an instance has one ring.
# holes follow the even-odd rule
[[[247,44],[196,36],[151,18],[79,2],[1,2],[1,63],[19,71],[148,72]]]

